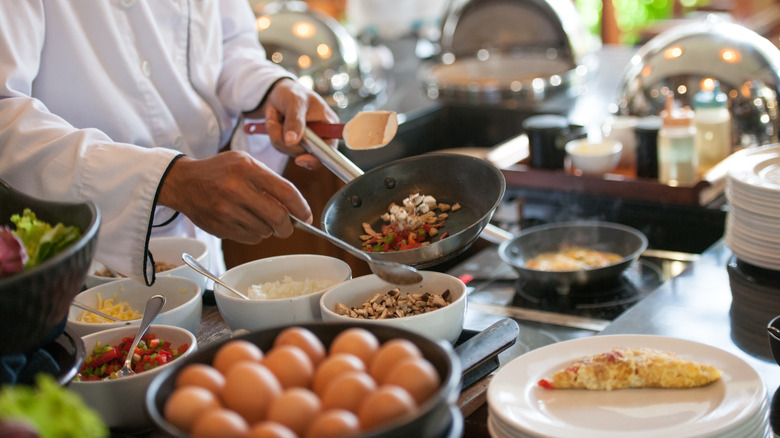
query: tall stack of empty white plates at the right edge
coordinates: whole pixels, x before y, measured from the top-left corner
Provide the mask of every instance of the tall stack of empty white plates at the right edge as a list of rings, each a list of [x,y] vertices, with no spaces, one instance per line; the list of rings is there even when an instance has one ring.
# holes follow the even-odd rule
[[[780,270],[780,145],[744,150],[726,180],[726,243],[740,259]]]

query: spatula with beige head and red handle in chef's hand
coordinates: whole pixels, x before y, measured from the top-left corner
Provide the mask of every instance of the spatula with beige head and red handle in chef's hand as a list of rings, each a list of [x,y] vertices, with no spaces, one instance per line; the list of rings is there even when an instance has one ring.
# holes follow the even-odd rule
[[[310,122],[306,125],[320,138],[343,138],[350,149],[381,148],[395,137],[398,116],[393,111],[361,111],[347,123]],[[247,134],[267,134],[264,122],[244,125]]]

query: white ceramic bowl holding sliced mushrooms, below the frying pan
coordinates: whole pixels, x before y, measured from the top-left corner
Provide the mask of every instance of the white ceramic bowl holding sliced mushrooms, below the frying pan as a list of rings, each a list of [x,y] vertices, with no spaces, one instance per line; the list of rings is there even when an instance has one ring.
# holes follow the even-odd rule
[[[371,274],[353,278],[334,286],[325,292],[320,300],[322,320],[390,325],[419,333],[431,339],[446,340],[454,344],[463,331],[463,321],[466,317],[466,285],[459,278],[449,274],[433,271],[420,271],[420,273],[423,276],[423,281],[414,285],[392,285]],[[335,311],[337,303],[350,308],[360,306],[373,295],[385,293],[395,287],[398,287],[402,294],[422,292],[441,294],[449,289],[452,301],[449,305],[432,312],[403,318],[355,319],[339,315]]]

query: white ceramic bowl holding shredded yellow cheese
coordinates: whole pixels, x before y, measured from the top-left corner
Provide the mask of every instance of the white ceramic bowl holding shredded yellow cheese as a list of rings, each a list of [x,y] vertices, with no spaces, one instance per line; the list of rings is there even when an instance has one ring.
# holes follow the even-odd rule
[[[157,315],[156,324],[173,325],[197,333],[200,325],[203,299],[200,285],[188,278],[161,277],[154,285],[147,287],[130,278],[122,278],[110,283],[101,284],[76,295],[75,301],[81,304],[97,308],[97,294],[103,299],[113,298],[116,294],[117,301],[127,301],[130,307],[143,313],[146,300],[152,295],[164,295],[165,306]],[[94,332],[108,330],[115,327],[123,327],[126,322],[88,323],[78,321],[83,310],[71,306],[68,311],[67,326],[77,335],[86,336]],[[130,325],[139,325],[140,319],[130,322]]]

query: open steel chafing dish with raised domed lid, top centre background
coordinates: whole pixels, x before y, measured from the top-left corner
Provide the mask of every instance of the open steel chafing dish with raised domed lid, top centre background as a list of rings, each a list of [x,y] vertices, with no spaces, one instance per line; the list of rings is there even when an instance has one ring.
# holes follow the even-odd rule
[[[597,47],[570,0],[453,0],[440,44],[419,72],[430,98],[536,110],[570,105]]]

